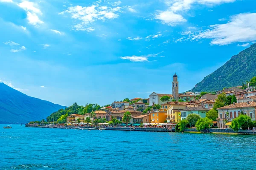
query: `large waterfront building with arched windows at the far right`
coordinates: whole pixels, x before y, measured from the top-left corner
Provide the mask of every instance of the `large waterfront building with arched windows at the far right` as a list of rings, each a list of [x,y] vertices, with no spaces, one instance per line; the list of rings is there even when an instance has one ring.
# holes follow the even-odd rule
[[[240,102],[233,103],[221,108],[218,108],[218,117],[220,118],[219,124],[220,128],[225,128],[231,125],[233,119],[235,119],[240,114],[249,116],[252,121],[255,120],[255,109],[256,102]]]

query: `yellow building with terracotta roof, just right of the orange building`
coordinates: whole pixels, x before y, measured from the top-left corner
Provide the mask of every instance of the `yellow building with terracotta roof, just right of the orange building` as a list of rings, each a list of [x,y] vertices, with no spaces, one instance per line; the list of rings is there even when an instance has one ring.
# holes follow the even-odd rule
[[[179,123],[181,120],[180,111],[185,109],[186,105],[173,104],[167,110],[167,123]]]

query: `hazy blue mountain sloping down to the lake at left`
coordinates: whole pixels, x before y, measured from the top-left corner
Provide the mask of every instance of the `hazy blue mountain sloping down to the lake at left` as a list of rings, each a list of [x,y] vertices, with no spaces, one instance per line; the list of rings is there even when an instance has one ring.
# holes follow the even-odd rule
[[[60,108],[64,108],[64,106],[27,96],[0,83],[0,124],[40,121]]]

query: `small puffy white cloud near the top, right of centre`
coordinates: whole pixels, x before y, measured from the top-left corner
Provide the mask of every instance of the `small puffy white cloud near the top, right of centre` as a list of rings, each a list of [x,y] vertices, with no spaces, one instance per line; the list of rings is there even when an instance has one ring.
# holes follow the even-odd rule
[[[184,23],[187,20],[182,17],[180,14],[175,14],[172,11],[160,11],[155,19],[161,20],[162,23],[169,26],[177,26],[178,24]]]

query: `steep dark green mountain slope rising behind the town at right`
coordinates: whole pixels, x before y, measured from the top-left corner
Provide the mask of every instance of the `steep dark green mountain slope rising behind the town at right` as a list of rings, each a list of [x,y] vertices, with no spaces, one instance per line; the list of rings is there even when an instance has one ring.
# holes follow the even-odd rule
[[[242,85],[256,76],[256,43],[231,57],[224,65],[197,83],[192,92],[218,91],[223,88]]]

